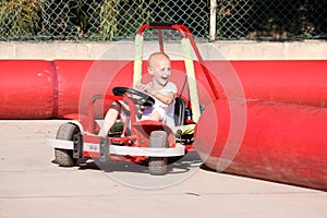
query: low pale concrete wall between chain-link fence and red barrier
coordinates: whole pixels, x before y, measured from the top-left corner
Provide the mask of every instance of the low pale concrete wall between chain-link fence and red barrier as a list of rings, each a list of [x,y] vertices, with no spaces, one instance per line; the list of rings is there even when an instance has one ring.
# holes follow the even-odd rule
[[[294,43],[216,41],[197,44],[205,60],[326,60],[327,41]],[[172,59],[180,59],[182,48],[167,44]],[[133,41],[119,43],[0,43],[0,59],[109,59],[132,60]],[[144,55],[158,50],[145,43]]]

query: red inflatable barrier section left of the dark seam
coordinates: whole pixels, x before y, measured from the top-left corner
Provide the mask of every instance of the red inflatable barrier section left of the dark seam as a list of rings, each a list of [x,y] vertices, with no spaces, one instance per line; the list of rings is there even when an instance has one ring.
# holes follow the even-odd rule
[[[0,119],[56,116],[53,72],[53,63],[48,61],[0,61]]]

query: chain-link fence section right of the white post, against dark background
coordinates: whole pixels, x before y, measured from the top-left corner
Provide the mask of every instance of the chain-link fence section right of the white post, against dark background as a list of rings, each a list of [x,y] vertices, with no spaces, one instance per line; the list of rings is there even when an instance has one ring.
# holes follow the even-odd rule
[[[219,0],[220,39],[296,40],[327,38],[326,0]]]

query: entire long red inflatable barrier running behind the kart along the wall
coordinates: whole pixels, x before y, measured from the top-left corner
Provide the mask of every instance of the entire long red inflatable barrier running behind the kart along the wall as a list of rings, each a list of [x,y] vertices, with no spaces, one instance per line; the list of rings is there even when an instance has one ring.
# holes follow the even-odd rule
[[[206,66],[220,97],[242,96],[244,92],[246,98],[327,106],[326,60],[207,61]],[[172,61],[172,81],[187,98],[183,61]],[[197,62],[194,69],[202,71]],[[146,73],[146,62],[143,70]],[[0,119],[63,118],[85,112],[90,96],[105,95],[114,86],[131,86],[132,72],[133,61],[1,60]],[[202,73],[196,76],[201,104],[211,104],[215,98],[208,82]]]

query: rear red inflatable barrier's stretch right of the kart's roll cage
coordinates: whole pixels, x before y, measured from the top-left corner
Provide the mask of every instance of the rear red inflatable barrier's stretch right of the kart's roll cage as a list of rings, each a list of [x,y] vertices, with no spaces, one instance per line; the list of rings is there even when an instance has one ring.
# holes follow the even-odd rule
[[[237,75],[246,98],[327,107],[327,60],[208,61],[206,65],[230,89],[238,85],[231,78]]]

